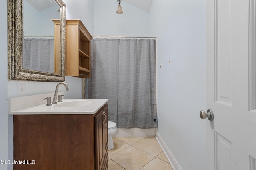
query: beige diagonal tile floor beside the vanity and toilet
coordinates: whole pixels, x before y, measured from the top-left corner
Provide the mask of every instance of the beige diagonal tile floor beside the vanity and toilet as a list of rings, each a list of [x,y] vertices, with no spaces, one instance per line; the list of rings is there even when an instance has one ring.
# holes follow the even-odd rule
[[[173,170],[155,137],[114,137],[108,170]]]

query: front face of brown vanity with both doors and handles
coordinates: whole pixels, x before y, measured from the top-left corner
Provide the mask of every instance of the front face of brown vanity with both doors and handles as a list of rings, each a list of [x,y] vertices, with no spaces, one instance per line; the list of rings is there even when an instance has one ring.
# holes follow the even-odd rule
[[[94,117],[95,125],[95,169],[105,170],[108,166],[108,106]]]

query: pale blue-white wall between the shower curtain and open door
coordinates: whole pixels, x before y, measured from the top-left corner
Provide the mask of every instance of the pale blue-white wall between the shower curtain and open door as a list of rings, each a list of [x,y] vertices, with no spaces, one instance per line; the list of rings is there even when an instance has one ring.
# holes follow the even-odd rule
[[[182,169],[206,170],[206,121],[199,117],[206,110],[206,1],[154,0],[150,22],[158,135]]]

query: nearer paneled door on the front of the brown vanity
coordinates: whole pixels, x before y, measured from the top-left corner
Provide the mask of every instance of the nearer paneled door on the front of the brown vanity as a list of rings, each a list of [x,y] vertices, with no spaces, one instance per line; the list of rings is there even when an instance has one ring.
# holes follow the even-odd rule
[[[95,169],[102,170],[105,158],[105,122],[106,116],[104,109],[102,109],[94,117],[95,125]]]

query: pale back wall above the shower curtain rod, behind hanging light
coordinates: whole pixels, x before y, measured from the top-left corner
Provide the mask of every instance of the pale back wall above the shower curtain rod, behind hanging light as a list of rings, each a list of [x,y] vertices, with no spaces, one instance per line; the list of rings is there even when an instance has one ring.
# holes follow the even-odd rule
[[[116,0],[95,0],[94,35],[148,36],[149,14],[121,2],[123,14],[116,14]]]

